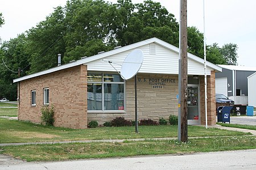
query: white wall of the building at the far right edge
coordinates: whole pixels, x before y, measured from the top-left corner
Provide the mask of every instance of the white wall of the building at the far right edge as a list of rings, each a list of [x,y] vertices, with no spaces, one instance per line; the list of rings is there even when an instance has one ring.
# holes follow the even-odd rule
[[[256,73],[248,77],[248,105],[256,107]]]

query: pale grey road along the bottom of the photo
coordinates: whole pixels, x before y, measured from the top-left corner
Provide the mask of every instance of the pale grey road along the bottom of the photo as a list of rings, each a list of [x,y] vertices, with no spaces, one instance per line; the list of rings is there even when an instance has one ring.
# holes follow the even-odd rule
[[[11,162],[9,160],[5,163],[4,159],[3,155],[0,155],[0,169],[256,169],[256,149],[64,162],[27,163],[21,160]]]

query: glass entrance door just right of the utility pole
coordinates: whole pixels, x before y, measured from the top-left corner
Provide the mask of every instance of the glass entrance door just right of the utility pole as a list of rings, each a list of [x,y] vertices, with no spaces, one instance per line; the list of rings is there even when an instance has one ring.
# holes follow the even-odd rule
[[[188,125],[199,124],[200,120],[200,92],[197,84],[188,85]]]

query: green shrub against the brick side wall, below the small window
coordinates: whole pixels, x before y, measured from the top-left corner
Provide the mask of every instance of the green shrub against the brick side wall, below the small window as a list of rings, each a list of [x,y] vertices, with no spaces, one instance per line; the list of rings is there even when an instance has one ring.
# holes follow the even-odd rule
[[[41,108],[41,124],[44,125],[51,125],[53,126],[54,123],[54,106],[52,105],[51,108],[48,106],[44,106]]]

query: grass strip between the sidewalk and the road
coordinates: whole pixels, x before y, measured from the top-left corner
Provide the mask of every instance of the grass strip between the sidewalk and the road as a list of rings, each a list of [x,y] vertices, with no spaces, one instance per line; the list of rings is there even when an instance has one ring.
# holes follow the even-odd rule
[[[256,148],[254,136],[189,139],[188,142],[143,141],[120,143],[68,143],[0,147],[0,154],[27,161],[53,161],[89,158],[112,158],[158,154],[244,150]]]

